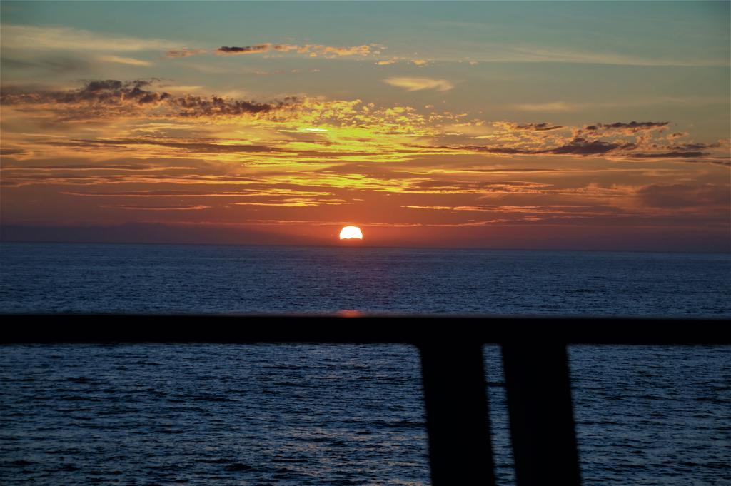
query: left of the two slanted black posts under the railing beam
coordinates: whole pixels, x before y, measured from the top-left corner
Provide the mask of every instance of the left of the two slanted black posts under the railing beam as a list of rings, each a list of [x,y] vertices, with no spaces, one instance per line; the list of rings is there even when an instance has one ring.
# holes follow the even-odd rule
[[[431,484],[495,485],[482,344],[419,347]]]

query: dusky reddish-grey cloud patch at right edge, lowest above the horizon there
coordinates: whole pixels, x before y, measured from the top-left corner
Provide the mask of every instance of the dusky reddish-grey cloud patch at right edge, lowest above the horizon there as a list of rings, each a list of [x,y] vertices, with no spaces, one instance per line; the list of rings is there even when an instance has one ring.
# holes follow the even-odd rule
[[[728,206],[731,186],[719,184],[653,184],[637,191],[637,197],[653,208],[694,208],[698,206]]]

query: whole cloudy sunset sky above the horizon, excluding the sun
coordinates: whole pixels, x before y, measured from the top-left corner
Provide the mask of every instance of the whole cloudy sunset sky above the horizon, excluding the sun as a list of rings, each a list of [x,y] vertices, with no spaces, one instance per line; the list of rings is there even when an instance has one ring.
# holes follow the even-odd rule
[[[730,251],[730,4],[3,1],[4,240]]]

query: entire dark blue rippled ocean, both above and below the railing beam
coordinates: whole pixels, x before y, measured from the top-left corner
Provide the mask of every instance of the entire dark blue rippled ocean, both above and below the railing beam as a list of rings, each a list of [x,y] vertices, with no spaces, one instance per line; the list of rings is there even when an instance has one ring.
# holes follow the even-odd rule
[[[0,246],[0,312],[731,316],[731,257]],[[586,485],[730,485],[731,346],[571,346]],[[499,347],[485,346],[500,485]],[[0,346],[2,485],[426,485],[416,349]]]

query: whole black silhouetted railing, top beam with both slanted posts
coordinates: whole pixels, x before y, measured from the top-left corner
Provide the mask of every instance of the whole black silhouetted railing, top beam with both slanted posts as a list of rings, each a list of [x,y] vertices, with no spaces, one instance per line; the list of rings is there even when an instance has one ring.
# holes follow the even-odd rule
[[[11,319],[8,319],[8,318]],[[501,346],[518,486],[580,485],[570,344],[730,344],[721,320],[5,316],[0,343],[407,343],[422,362],[432,484],[494,485],[482,346]]]

